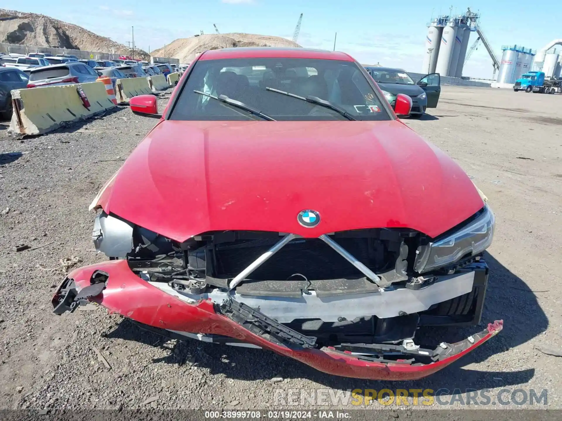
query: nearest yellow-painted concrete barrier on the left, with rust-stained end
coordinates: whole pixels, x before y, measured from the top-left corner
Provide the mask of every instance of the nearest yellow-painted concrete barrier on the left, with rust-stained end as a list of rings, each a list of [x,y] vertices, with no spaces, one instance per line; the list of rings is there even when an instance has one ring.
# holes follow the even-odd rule
[[[78,88],[84,91],[90,103],[88,108],[80,99]],[[8,131],[24,135],[44,134],[115,107],[107,98],[102,82],[15,89],[12,99],[14,107]]]

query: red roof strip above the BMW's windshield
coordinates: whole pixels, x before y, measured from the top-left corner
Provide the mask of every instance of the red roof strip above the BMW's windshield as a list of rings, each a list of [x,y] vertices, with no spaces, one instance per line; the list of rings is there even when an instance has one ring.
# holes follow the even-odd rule
[[[348,54],[300,47],[235,47],[208,50],[199,60],[221,60],[225,58],[311,58],[318,60],[354,61]]]

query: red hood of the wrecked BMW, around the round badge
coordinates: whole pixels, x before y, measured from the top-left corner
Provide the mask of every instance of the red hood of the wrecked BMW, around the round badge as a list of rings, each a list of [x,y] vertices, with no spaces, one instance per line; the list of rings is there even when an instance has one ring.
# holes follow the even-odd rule
[[[400,121],[160,122],[98,202],[177,241],[214,230],[408,227],[434,237],[483,202],[461,168]],[[320,213],[314,228],[297,214]]]

